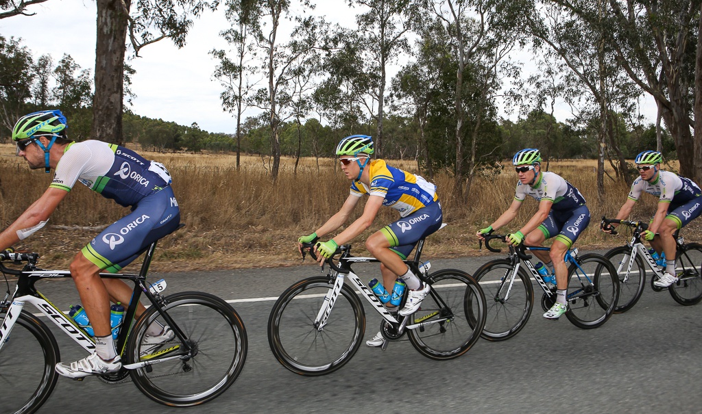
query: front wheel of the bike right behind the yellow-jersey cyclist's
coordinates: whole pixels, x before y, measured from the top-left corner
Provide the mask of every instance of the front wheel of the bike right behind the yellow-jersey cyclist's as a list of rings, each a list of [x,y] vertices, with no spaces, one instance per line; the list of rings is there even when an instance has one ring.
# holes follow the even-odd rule
[[[487,301],[487,316],[482,331],[482,337],[486,340],[512,338],[524,328],[531,316],[534,287],[531,286],[529,275],[521,268],[510,287],[513,270],[512,263],[501,258],[485,263],[475,272],[475,280],[480,284]]]

